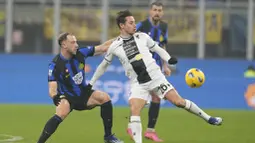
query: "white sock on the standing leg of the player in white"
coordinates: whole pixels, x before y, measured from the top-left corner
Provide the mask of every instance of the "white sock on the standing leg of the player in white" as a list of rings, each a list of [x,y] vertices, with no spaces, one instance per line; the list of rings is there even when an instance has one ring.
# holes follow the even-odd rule
[[[135,143],[142,143],[142,123],[140,116],[131,116],[129,126]]]

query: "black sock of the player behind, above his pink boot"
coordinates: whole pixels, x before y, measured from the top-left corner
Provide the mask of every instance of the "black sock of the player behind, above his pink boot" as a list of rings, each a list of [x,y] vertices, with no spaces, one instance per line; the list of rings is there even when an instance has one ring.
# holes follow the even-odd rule
[[[160,103],[151,102],[151,105],[149,108],[148,128],[152,128],[152,129],[155,128],[155,125],[158,119],[159,108],[160,108]]]

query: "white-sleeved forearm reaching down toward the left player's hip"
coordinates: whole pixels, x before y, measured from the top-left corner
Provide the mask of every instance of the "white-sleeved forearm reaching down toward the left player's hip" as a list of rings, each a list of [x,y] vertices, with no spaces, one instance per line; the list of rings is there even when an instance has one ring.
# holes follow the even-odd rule
[[[110,63],[104,59],[97,67],[96,72],[94,73],[92,79],[89,82],[90,85],[94,85],[94,83],[104,74],[108,65],[110,65]]]

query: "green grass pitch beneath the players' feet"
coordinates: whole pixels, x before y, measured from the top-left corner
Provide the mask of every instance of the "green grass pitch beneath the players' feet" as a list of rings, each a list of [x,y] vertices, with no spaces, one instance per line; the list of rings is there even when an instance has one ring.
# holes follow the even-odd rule
[[[206,110],[224,119],[222,126],[211,126],[202,119],[176,108],[162,108],[156,130],[165,143],[255,143],[255,112]],[[0,105],[0,143],[36,143],[46,121],[54,114],[53,105]],[[142,112],[143,131],[148,108]],[[114,107],[113,132],[125,143],[133,143],[126,134],[127,107]],[[7,136],[21,141],[6,141]],[[152,141],[143,140],[144,143]],[[47,143],[103,143],[100,108],[74,111],[61,123]]]

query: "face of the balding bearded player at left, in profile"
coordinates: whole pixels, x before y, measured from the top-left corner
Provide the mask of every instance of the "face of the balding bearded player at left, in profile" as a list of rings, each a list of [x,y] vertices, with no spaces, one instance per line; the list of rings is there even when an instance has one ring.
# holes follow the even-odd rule
[[[68,35],[65,42],[66,49],[70,54],[75,55],[78,50],[77,39],[74,35]]]

